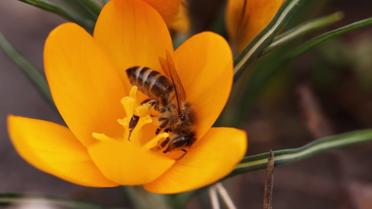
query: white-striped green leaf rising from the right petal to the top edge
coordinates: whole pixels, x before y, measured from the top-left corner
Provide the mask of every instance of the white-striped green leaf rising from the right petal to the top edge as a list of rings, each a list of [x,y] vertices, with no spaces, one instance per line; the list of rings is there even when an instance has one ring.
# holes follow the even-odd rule
[[[280,30],[291,19],[298,7],[305,0],[287,0],[280,7],[269,25],[266,26],[241,52],[234,61],[234,83],[246,71],[262,50],[270,44]]]

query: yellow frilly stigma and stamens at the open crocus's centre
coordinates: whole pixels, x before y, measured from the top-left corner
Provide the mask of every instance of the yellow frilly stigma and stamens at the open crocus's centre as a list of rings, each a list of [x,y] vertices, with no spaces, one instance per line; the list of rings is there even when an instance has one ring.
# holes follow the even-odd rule
[[[140,139],[144,135],[142,127],[147,123],[153,122],[153,119],[151,119],[151,116],[148,114],[148,112],[151,109],[151,105],[149,103],[144,104],[138,103],[137,89],[138,89],[137,86],[133,86],[129,93],[129,96],[126,96],[123,99],[121,99],[121,103],[124,107],[126,117],[124,119],[118,119],[119,124],[124,127],[123,138],[119,140],[123,141],[124,143],[133,141],[134,144],[140,145],[142,148],[148,150],[155,147],[162,138],[166,139],[169,136],[169,134],[164,132],[158,134],[153,139],[148,140],[144,144],[140,143],[141,141]],[[135,127],[130,128],[129,126],[133,126],[133,124],[131,124],[133,123],[132,119],[135,118],[137,124],[135,124]],[[99,141],[114,140],[109,136],[106,136],[105,134],[93,133],[92,136],[98,139]]]

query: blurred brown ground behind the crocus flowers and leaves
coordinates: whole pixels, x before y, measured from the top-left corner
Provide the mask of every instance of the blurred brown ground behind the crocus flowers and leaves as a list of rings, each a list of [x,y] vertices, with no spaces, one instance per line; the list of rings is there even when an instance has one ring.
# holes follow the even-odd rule
[[[321,32],[372,16],[371,0],[321,2],[307,18],[338,10],[345,13],[343,20]],[[211,27],[221,3],[190,2],[194,32]],[[44,41],[62,22],[57,15],[17,0],[0,1],[0,31],[40,69]],[[110,207],[128,205],[120,187],[77,186],[33,168],[17,155],[7,135],[8,114],[61,124],[63,120],[3,52],[0,98],[0,192],[49,194]],[[315,113],[307,107],[314,101],[318,102]],[[312,129],[314,121],[320,121],[321,127]],[[276,76],[240,128],[248,132],[248,155],[300,147],[322,134],[372,128],[371,26],[318,46]],[[368,143],[276,167],[273,208],[372,208],[371,159],[372,143]],[[264,176],[264,171],[258,171],[225,181],[238,208],[262,208]],[[187,207],[208,208],[208,201],[205,193],[199,194]]]

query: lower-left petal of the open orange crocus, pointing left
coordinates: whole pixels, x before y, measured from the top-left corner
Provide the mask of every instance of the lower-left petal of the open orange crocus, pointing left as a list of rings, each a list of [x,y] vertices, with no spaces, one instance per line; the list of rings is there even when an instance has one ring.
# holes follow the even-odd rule
[[[70,129],[45,120],[8,116],[8,132],[18,154],[36,168],[74,184],[113,187]]]

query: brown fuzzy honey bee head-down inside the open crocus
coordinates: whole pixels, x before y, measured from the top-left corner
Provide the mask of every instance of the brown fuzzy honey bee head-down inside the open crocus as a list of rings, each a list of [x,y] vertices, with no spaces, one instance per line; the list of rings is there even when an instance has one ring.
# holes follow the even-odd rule
[[[131,84],[137,86],[150,98],[142,103],[149,103],[154,106],[156,112],[160,113],[157,116],[160,125],[155,134],[159,134],[161,130],[171,132],[171,135],[160,145],[160,148],[163,148],[168,144],[163,153],[181,149],[185,153],[176,159],[179,160],[187,153],[185,148],[192,146],[196,141],[196,113],[193,104],[187,102],[185,90],[168,51],[166,55],[167,59],[159,57],[159,61],[170,78],[148,67],[139,66],[128,68],[126,74]],[[137,125],[138,120],[138,116],[132,116],[129,123],[131,131]],[[131,131],[129,131],[129,137]]]

